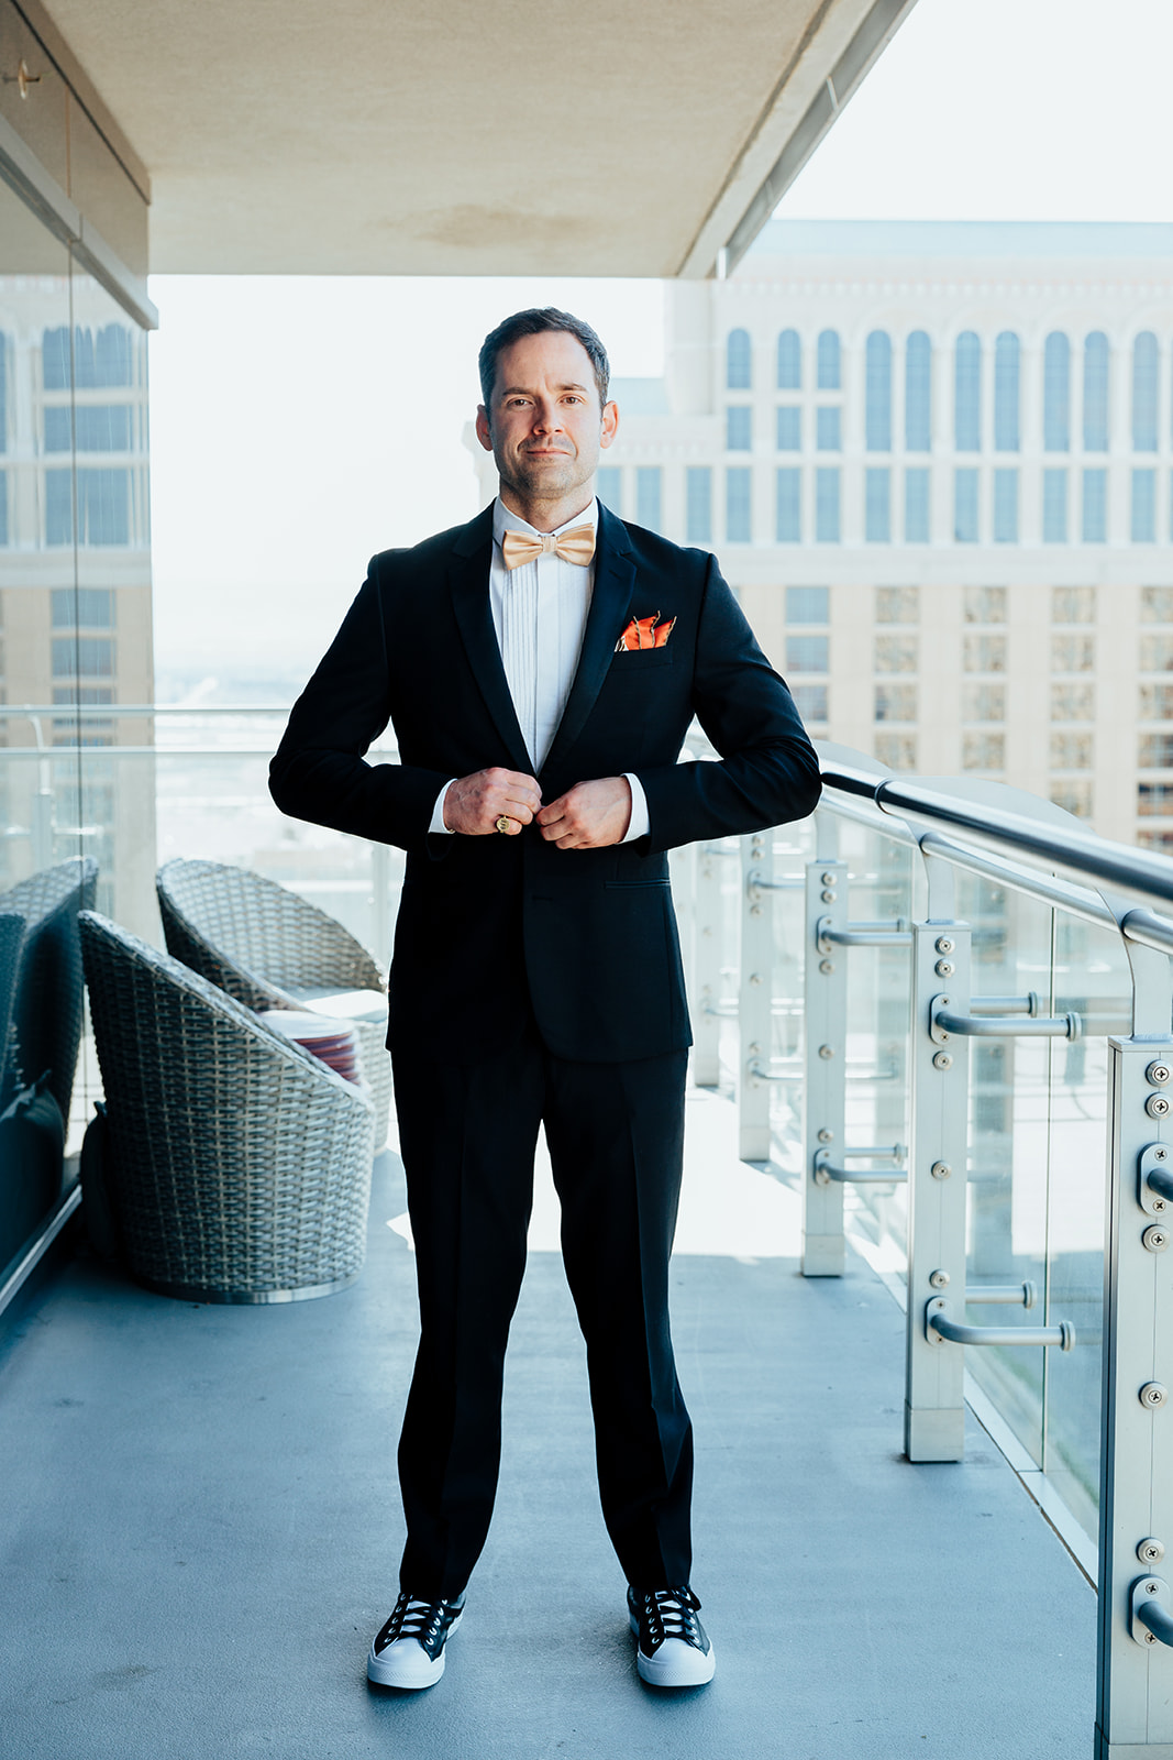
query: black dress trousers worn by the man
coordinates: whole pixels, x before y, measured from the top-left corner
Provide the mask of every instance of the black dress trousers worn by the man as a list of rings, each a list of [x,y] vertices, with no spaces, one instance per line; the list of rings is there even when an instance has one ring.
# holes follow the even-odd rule
[[[521,1042],[471,1065],[394,1045],[420,1295],[399,1441],[410,1593],[459,1595],[489,1531],[542,1121],[587,1346],[607,1531],[628,1582],[688,1582],[693,1434],[668,1332],[686,1061],[679,1051],[570,1063],[533,1021]]]

